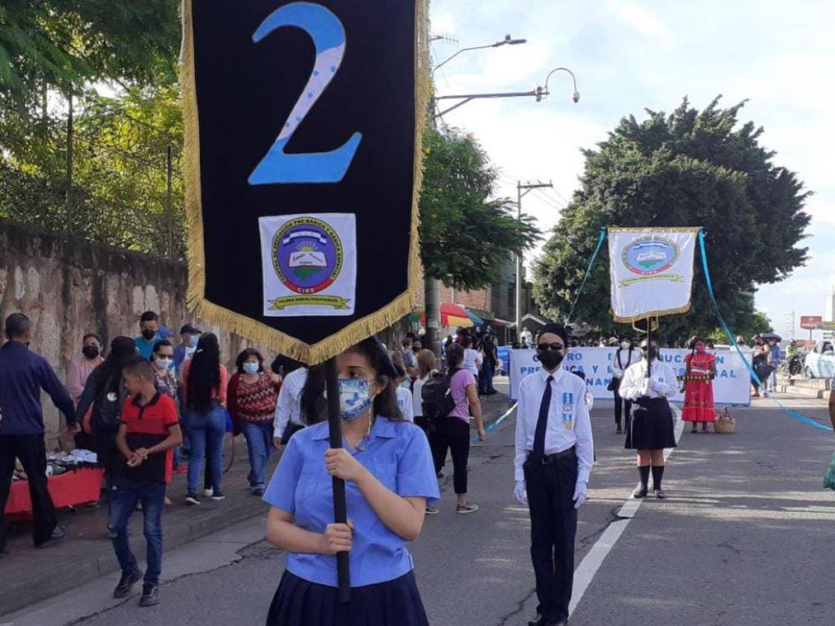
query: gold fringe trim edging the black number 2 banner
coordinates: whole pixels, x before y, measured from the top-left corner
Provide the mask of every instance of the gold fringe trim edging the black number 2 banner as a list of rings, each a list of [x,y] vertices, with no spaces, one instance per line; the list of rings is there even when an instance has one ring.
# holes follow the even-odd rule
[[[415,2],[415,138],[412,183],[412,232],[409,245],[407,290],[376,313],[349,324],[342,331],[316,344],[307,344],[266,324],[242,316],[205,299],[205,247],[200,199],[200,125],[195,87],[195,43],[192,23],[193,0],[183,0],[183,48],[180,85],[185,124],[185,215],[188,229],[189,290],[187,304],[195,316],[256,341],[309,365],[336,356],[359,341],[391,326],[416,308],[423,285],[418,237],[421,187],[423,184],[423,130],[429,104],[428,0]]]

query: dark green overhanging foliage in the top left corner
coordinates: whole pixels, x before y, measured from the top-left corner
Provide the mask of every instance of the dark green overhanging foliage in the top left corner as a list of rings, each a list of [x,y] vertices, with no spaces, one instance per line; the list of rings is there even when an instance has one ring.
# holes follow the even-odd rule
[[[9,0],[0,6],[0,100],[31,107],[44,89],[97,80],[176,79],[178,0]]]

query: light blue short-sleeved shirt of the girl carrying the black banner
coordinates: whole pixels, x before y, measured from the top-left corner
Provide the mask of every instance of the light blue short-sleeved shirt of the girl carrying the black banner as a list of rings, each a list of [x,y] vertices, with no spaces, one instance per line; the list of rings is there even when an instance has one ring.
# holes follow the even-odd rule
[[[367,444],[367,445],[366,445]],[[296,432],[273,473],[264,501],[291,513],[294,523],[324,533],[333,523],[333,487],[325,469],[327,422]],[[352,451],[357,461],[383,485],[402,497],[440,497],[429,442],[408,422],[374,420],[370,437]],[[346,482],[348,518],[354,524],[351,586],[385,583],[412,571],[407,541],[380,519],[353,482]],[[311,583],[337,586],[337,558],[324,554],[287,553],[286,568]]]

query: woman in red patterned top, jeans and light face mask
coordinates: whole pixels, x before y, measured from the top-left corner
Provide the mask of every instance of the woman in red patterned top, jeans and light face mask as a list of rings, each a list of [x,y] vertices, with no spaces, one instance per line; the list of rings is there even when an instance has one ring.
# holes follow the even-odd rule
[[[264,370],[264,357],[246,348],[235,360],[238,371],[230,378],[226,399],[235,431],[246,437],[250,457],[250,491],[264,495],[264,468],[272,452],[272,419],[281,391],[281,377]]]

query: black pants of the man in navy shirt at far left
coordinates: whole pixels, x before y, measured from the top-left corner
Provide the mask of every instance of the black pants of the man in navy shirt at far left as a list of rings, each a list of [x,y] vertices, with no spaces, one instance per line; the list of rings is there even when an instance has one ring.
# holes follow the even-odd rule
[[[12,487],[14,459],[20,459],[29,483],[29,497],[35,516],[33,539],[36,546],[52,537],[58,525],[52,497],[47,489],[47,449],[43,434],[0,435],[0,550],[6,548],[6,503]]]

